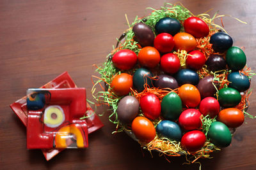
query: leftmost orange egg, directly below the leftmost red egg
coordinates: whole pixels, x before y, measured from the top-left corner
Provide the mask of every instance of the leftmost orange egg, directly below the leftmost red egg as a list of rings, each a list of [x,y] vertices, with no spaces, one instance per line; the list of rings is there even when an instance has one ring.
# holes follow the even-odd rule
[[[117,96],[125,96],[129,94],[132,87],[132,76],[127,73],[116,75],[111,82],[112,91]]]

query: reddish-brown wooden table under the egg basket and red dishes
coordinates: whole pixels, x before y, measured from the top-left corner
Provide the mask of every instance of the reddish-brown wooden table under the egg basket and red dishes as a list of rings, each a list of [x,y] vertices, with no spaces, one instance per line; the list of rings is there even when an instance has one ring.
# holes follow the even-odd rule
[[[223,24],[234,45],[244,46],[248,66],[256,70],[255,1],[180,1],[195,15],[213,8],[224,17]],[[67,149],[47,162],[40,150],[26,150],[26,128],[9,105],[40,87],[63,71],[68,71],[78,87],[86,87],[92,100],[93,64],[102,64],[116,38],[136,15],[150,13],[164,1],[4,1],[0,2],[0,169],[198,169],[198,164],[182,165],[184,157],[153,158],[125,133],[111,134],[115,125],[108,115],[100,117],[104,127],[89,135],[89,148]],[[175,3],[174,1],[172,3]],[[218,21],[220,24],[220,20]],[[252,80],[249,113],[255,115],[255,78]],[[106,111],[100,108],[97,113]],[[256,169],[256,124],[246,118],[237,129],[232,145],[201,159],[202,169]]]

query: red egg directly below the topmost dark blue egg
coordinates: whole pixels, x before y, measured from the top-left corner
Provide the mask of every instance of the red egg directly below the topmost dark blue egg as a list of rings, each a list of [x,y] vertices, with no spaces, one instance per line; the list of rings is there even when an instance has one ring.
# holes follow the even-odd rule
[[[171,34],[161,33],[154,39],[154,47],[161,53],[172,52],[174,47],[174,39]]]

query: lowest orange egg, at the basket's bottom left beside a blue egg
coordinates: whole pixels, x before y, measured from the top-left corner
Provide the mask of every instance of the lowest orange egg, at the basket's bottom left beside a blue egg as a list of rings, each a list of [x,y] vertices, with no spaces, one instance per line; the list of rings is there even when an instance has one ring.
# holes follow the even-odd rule
[[[143,143],[149,143],[156,137],[156,129],[145,117],[136,117],[132,121],[132,132]]]

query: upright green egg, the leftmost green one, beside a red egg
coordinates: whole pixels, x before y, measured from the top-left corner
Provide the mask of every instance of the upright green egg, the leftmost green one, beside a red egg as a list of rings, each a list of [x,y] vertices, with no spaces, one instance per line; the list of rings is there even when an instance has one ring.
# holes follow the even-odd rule
[[[179,118],[182,110],[180,97],[175,92],[170,92],[163,97],[161,103],[161,115],[168,120],[176,120]]]

